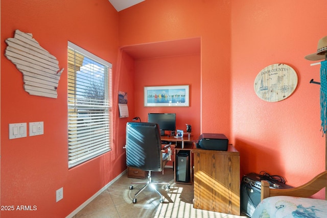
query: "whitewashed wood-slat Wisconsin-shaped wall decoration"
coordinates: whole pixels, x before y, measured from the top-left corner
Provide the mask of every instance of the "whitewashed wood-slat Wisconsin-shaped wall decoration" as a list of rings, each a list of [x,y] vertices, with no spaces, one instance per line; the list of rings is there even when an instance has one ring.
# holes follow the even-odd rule
[[[6,39],[5,56],[22,72],[24,89],[31,95],[57,98],[59,71],[57,58],[43,49],[31,33],[15,31]]]

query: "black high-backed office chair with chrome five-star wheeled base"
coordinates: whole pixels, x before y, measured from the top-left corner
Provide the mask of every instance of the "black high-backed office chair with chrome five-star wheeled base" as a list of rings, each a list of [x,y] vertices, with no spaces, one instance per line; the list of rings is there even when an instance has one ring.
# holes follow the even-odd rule
[[[166,151],[167,153],[163,153]],[[148,180],[144,182],[132,182],[129,189],[133,189],[132,184],[145,184],[135,195],[133,203],[136,203],[136,196],[147,186],[151,186],[160,196],[160,203],[164,202],[164,197],[153,186],[155,184],[166,185],[170,189],[168,182],[153,182],[151,172],[160,172],[168,161],[171,160],[170,144],[161,149],[161,139],[158,124],[154,123],[127,123],[126,125],[126,164],[127,166],[148,171]]]

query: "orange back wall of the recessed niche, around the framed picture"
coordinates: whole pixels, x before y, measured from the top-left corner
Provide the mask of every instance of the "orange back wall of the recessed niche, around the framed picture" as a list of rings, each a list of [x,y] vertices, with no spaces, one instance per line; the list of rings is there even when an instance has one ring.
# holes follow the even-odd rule
[[[176,113],[176,129],[200,135],[200,55],[135,60],[135,114],[147,121],[148,113]],[[190,107],[144,107],[144,86],[190,85]]]

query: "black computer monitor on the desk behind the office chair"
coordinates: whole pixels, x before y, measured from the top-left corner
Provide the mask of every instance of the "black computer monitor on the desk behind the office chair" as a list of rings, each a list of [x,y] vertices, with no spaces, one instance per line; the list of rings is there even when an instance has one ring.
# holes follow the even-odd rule
[[[165,135],[165,130],[176,130],[176,113],[148,113],[148,122],[158,124],[160,135]]]

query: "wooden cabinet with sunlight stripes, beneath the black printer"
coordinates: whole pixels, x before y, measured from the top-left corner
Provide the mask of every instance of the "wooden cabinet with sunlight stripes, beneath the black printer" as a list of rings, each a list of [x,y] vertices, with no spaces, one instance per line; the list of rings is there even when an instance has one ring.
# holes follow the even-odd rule
[[[194,202],[197,209],[240,215],[240,153],[193,149]]]

